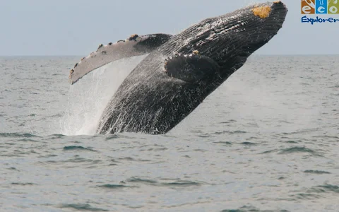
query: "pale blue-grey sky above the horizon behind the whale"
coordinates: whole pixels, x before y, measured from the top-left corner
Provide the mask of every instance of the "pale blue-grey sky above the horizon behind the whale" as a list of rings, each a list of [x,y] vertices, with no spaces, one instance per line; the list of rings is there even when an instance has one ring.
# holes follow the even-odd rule
[[[131,34],[176,34],[254,0],[0,0],[0,55],[83,55]],[[339,54],[339,23],[301,23],[300,0],[256,54]],[[315,18],[315,16],[309,16]],[[321,16],[338,18],[339,14]]]

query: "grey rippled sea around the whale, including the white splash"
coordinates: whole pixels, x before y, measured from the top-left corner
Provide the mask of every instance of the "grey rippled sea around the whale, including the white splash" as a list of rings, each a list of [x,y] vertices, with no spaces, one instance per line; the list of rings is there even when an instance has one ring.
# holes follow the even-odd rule
[[[338,56],[251,56],[165,135],[97,135],[143,57],[0,57],[0,211],[339,211]]]

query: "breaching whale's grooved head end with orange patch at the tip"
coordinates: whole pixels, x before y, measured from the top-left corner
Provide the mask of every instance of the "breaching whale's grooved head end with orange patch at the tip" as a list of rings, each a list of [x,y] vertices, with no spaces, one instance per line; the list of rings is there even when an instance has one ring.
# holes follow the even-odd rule
[[[246,6],[191,26],[178,54],[198,53],[218,63],[227,78],[282,28],[287,8],[281,1]]]

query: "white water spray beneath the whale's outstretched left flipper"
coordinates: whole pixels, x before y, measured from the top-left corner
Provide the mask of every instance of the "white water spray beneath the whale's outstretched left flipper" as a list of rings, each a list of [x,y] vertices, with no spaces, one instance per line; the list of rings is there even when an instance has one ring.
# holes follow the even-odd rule
[[[93,135],[103,110],[126,76],[146,55],[114,61],[88,73],[70,86],[68,106],[60,121],[61,134]]]

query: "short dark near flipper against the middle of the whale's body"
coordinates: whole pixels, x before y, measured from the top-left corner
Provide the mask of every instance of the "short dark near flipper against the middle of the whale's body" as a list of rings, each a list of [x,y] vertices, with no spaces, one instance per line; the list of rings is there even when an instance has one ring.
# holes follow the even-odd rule
[[[201,56],[197,51],[193,54],[177,54],[165,61],[167,76],[179,78],[182,81],[195,83],[203,78],[218,74],[220,66],[210,57]]]

